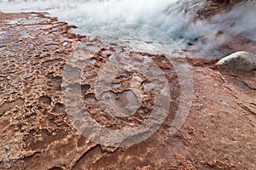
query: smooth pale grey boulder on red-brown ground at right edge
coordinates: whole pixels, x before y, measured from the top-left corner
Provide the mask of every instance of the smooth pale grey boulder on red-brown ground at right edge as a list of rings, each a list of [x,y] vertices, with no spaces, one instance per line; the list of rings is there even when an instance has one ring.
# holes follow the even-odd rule
[[[253,71],[256,69],[256,55],[239,51],[220,59],[216,65],[219,69],[227,71]]]

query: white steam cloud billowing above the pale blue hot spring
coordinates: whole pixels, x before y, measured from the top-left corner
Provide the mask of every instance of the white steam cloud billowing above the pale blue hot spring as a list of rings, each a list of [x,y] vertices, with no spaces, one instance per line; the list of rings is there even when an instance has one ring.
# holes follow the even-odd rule
[[[255,1],[239,4],[230,12],[217,14],[210,20],[193,21],[197,8],[203,3],[198,0],[5,0],[0,1],[0,10],[46,11],[79,26],[79,32],[84,34],[102,26],[138,23],[164,31],[180,46],[205,36],[211,43],[197,44],[204,50],[218,48],[234,34],[256,40]],[[212,36],[218,31],[224,32],[224,35]]]

